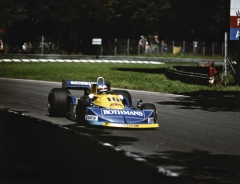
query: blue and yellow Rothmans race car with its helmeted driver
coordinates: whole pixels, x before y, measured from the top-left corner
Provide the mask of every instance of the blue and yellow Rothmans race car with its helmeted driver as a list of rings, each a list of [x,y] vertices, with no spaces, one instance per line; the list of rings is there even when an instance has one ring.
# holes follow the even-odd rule
[[[84,90],[79,98],[69,90]],[[158,128],[156,107],[132,97],[126,90],[111,90],[111,84],[98,77],[96,82],[63,80],[62,88],[48,95],[50,116],[63,116],[79,125],[99,125],[119,128]]]

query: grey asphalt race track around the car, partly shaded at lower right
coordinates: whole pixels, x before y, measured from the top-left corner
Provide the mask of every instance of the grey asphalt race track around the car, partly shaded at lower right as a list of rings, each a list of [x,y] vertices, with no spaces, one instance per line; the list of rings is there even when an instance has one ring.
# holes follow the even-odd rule
[[[85,128],[66,118],[48,116],[48,92],[56,87],[61,83],[0,79],[0,108],[89,135],[179,176],[201,179],[202,183],[240,181],[238,101],[129,90],[133,104],[142,99],[156,105],[158,130]]]

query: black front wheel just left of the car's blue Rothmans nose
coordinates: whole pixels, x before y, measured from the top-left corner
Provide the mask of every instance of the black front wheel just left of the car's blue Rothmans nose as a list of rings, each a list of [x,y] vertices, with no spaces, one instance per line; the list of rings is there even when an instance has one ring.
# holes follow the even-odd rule
[[[76,109],[77,124],[87,126],[85,116],[87,114],[87,107],[89,107],[89,106],[90,106],[90,104],[84,100],[78,101],[77,109]]]

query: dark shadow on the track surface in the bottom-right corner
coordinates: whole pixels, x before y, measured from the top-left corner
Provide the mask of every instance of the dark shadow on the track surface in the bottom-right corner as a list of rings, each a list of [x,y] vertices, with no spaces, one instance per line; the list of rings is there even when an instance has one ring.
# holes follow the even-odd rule
[[[157,152],[149,156],[150,162],[161,164],[180,173],[186,181],[194,184],[239,183],[240,156],[210,154],[207,151]]]

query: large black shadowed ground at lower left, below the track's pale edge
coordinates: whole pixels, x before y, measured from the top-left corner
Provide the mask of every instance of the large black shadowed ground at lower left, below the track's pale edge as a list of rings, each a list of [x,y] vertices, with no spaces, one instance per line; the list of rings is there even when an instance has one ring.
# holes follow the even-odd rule
[[[0,110],[0,183],[172,183],[176,180],[83,134]]]

